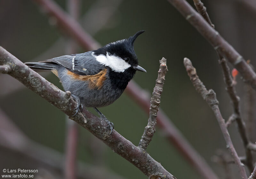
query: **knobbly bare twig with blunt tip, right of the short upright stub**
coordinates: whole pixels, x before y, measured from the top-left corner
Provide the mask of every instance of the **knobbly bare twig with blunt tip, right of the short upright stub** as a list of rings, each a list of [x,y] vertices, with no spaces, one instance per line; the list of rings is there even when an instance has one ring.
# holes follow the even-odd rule
[[[194,68],[194,66],[192,66],[192,63],[188,58],[184,58],[184,66],[188,72],[188,76],[189,76],[191,82],[193,83],[196,91],[198,93],[200,93],[200,95],[203,97],[203,99],[212,108],[212,111],[220,125],[220,129],[221,129],[224,139],[227,143],[228,150],[231,153],[231,155],[239,169],[239,173],[243,179],[246,179],[247,176],[246,176],[245,168],[244,168],[243,164],[241,163],[241,161],[236,153],[236,150],[234,148],[234,145],[231,141],[231,138],[229,136],[228,129],[226,127],[226,123],[220,113],[220,109],[218,106],[219,102],[216,98],[215,92],[212,89],[207,90],[205,88],[203,82],[201,82],[201,80],[199,79],[199,77],[196,74],[196,68]]]

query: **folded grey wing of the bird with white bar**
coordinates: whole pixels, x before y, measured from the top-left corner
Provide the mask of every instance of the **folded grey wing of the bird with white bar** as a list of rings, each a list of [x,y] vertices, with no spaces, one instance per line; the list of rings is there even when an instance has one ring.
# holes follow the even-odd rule
[[[85,52],[80,54],[64,55],[45,60],[43,62],[52,62],[64,66],[69,71],[79,75],[94,75],[106,68],[101,65],[91,53]]]

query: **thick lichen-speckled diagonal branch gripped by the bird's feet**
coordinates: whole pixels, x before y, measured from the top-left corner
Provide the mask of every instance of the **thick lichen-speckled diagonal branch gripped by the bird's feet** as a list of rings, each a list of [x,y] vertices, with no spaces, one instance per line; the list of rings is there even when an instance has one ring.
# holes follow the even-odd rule
[[[0,65],[10,66],[11,71],[9,75],[59,108],[70,119],[90,131],[94,136],[107,144],[112,151],[131,162],[148,177],[158,176],[159,178],[175,179],[159,162],[154,160],[148,153],[133,145],[116,130],[113,130],[112,134],[109,135],[107,124],[85,108],[82,112],[72,117],[76,102],[70,97],[71,93],[69,91],[66,93],[61,91],[2,47],[0,47]]]

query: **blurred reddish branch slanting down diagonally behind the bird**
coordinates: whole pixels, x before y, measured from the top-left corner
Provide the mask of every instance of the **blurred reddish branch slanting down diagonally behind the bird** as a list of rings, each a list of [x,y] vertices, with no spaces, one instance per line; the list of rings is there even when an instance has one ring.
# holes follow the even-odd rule
[[[42,1],[42,3],[48,3],[48,1]],[[51,2],[54,3],[54,2]],[[57,4],[55,4],[57,5]],[[48,5],[45,5],[45,7],[48,7]],[[47,10],[47,9],[46,9]],[[58,8],[58,11],[60,10],[60,7]],[[55,11],[54,8],[52,11]],[[58,11],[55,13],[52,13],[52,15],[58,14]],[[65,13],[61,13],[67,16]],[[59,15],[59,14],[58,14]],[[66,17],[59,19],[66,21]],[[70,21],[66,21],[65,23],[70,23]],[[64,22],[63,22],[64,24]],[[72,24],[69,24],[69,26]],[[78,24],[79,25],[79,24]],[[63,29],[66,29],[65,26],[62,27]],[[70,30],[70,32],[76,34],[77,31],[72,31],[72,29],[69,29],[67,27],[67,30]],[[76,41],[77,39],[74,38]],[[83,38],[81,40],[86,40],[86,38]],[[84,43],[80,43],[81,46],[84,49],[90,50],[90,48],[87,48],[88,46],[84,45]],[[126,93],[132,97],[134,101],[136,101],[146,113],[149,113],[149,107],[150,107],[150,98],[147,96],[147,92],[145,90],[141,89],[135,82],[131,81],[129,82]],[[217,175],[212,171],[211,167],[206,163],[206,161],[202,158],[202,156],[196,152],[196,150],[188,143],[188,141],[185,139],[185,137],[180,133],[180,131],[175,127],[174,124],[172,124],[171,120],[167,117],[167,115],[159,109],[158,116],[157,116],[157,125],[166,133],[166,137],[172,144],[177,148],[177,151],[181,153],[181,155],[198,171],[198,173],[205,179],[218,179]]]

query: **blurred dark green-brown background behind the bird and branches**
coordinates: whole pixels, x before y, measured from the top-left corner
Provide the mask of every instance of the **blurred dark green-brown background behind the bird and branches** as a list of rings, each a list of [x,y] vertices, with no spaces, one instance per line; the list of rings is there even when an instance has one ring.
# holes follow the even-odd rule
[[[68,12],[66,0],[55,2]],[[194,7],[192,0],[188,2]],[[256,8],[252,6],[254,3],[255,7],[256,2],[204,0],[203,3],[216,30],[256,66]],[[228,155],[220,127],[183,66],[184,57],[192,61],[206,88],[216,92],[221,113],[227,120],[233,108],[212,46],[164,0],[84,0],[80,1],[77,11],[82,27],[101,45],[146,30],[136,40],[134,48],[140,66],[148,73],[137,73],[134,81],[151,96],[159,60],[162,57],[167,59],[169,71],[160,106],[213,171],[220,178],[226,178],[226,166],[218,162],[220,154]],[[0,1],[0,23],[0,45],[22,62],[58,57],[71,53],[71,50],[75,53],[86,51],[70,42],[64,31],[56,26],[56,19],[45,15],[45,10],[33,1]],[[40,74],[62,89],[55,75],[49,72]],[[250,139],[255,143],[255,91],[245,85],[239,75],[236,80],[242,116],[247,127],[254,129],[248,130],[251,130]],[[0,74],[0,109],[0,168],[38,169],[36,178],[63,178],[67,127],[74,125],[67,122],[64,113],[6,74]],[[94,110],[88,110],[96,114]],[[131,97],[124,93],[115,103],[100,108],[100,111],[115,124],[121,135],[138,145],[147,125],[148,113]],[[249,124],[249,118],[254,122]],[[80,126],[76,128],[78,178],[147,178],[87,130]],[[236,124],[228,130],[238,155],[244,156]],[[147,151],[177,178],[202,178],[159,128],[156,128]],[[234,164],[229,164],[228,168],[232,173],[230,178],[240,178]]]

